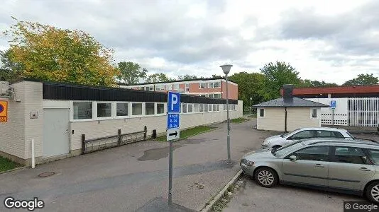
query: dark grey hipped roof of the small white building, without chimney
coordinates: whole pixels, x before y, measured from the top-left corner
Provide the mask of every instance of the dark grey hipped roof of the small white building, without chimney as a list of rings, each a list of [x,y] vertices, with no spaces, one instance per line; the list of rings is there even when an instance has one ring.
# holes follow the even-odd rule
[[[262,102],[258,105],[253,105],[253,107],[329,107],[329,105],[294,97],[289,100],[278,98],[268,102]]]

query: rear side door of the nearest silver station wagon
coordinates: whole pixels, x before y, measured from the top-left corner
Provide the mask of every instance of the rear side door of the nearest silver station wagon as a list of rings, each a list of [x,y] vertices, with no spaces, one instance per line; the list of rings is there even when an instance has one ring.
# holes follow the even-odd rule
[[[374,165],[361,148],[336,146],[329,165],[329,187],[360,190],[362,182],[375,174]]]

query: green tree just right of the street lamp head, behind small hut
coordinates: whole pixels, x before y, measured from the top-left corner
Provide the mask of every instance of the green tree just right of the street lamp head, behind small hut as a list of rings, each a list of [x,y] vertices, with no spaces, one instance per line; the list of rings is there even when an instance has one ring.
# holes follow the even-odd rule
[[[244,105],[250,107],[250,98],[252,105],[263,101],[265,76],[262,73],[234,73],[229,79],[238,84],[238,100],[243,100]]]

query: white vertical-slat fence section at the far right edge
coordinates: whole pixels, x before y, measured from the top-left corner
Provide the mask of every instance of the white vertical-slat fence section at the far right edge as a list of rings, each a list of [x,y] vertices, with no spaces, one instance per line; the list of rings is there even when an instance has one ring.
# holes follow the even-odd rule
[[[348,98],[348,126],[378,126],[379,98]]]

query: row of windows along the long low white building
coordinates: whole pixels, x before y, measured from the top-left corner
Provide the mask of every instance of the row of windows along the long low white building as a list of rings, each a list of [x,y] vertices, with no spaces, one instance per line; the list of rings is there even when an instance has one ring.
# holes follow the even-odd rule
[[[72,102],[72,108],[75,120],[165,114],[165,103],[160,102]],[[236,105],[229,105],[229,110],[236,110]],[[181,109],[182,113],[212,111],[219,112],[220,105],[182,103]]]

